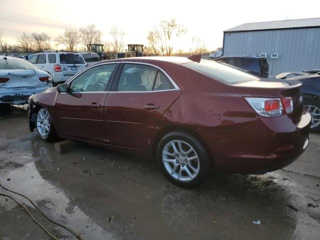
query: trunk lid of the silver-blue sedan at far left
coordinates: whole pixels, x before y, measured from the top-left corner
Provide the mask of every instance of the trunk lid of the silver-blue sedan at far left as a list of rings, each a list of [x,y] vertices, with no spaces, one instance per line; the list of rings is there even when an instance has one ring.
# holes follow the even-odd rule
[[[47,84],[39,80],[40,76],[47,76],[46,72],[35,69],[9,69],[0,70],[0,77],[9,78],[0,83],[0,87],[37,87]]]

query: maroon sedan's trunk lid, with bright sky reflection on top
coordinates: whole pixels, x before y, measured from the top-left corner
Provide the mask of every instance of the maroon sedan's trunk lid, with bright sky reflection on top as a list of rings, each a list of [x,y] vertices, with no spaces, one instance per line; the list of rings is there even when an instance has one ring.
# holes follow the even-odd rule
[[[247,81],[233,84],[243,97],[280,98],[291,97],[293,112],[287,114],[292,122],[299,122],[303,113],[302,83],[295,80],[262,78],[257,81]]]

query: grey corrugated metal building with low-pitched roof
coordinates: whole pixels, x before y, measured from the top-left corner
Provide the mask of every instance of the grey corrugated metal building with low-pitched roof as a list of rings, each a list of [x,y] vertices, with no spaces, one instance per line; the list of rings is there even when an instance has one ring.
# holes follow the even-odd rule
[[[266,56],[269,76],[320,69],[320,17],[232,27],[223,31],[222,55]]]

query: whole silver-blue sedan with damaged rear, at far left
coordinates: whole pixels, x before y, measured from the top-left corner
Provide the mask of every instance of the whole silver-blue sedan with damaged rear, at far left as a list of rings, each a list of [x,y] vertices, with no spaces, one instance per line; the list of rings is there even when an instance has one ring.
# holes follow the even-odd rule
[[[51,76],[30,62],[0,56],[0,103],[27,103],[28,97],[52,87]]]

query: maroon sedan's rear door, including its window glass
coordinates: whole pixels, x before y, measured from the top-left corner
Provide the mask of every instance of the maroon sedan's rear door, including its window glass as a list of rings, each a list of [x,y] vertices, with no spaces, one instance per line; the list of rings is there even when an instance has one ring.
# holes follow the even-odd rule
[[[106,144],[142,148],[180,89],[161,69],[121,63],[105,107]]]

